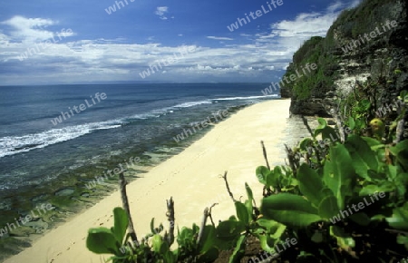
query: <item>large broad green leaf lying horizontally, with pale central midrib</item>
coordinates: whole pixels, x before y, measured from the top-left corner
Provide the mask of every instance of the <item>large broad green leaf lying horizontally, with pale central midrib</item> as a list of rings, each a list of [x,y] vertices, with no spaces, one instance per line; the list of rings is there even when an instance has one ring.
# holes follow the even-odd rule
[[[321,220],[317,209],[301,196],[280,193],[262,200],[261,213],[287,226],[306,227]]]

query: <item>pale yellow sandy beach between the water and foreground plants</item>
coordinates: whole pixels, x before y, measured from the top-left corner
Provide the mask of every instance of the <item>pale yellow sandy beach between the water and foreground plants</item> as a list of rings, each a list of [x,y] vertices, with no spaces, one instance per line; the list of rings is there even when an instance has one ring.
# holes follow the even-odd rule
[[[156,225],[162,222],[167,227],[166,200],[170,197],[175,202],[176,226],[180,228],[190,227],[193,222],[199,224],[203,210],[213,203],[219,203],[212,209],[214,220],[235,214],[220,178],[226,170],[234,196],[245,196],[244,183],[248,182],[258,202],[262,186],[257,182],[255,170],[265,165],[260,141],[265,142],[271,165],[284,162],[283,140],[289,105],[290,100],[272,100],[249,106],[217,124],[185,151],[131,182],[127,191],[139,239],[149,232],[151,218],[155,218]],[[121,196],[117,191],[5,262],[104,262],[109,255],[96,255],[86,248],[87,230],[100,226],[111,228],[112,209],[118,206]]]

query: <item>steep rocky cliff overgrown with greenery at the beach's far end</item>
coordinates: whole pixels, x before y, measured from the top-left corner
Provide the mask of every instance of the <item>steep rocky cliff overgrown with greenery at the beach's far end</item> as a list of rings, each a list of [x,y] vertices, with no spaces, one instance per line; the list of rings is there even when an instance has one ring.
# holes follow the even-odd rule
[[[306,63],[317,69],[282,88],[282,97],[292,98],[290,111],[328,116],[335,100],[366,80],[378,83],[377,105],[408,90],[407,17],[403,0],[365,0],[345,10],[325,38],[312,37],[294,54],[287,77]]]

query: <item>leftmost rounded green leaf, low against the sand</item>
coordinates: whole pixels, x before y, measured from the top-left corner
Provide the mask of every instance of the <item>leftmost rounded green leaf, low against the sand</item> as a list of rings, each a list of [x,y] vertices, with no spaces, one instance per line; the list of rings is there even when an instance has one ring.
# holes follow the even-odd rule
[[[121,256],[121,244],[113,236],[110,229],[97,228],[88,230],[86,248],[96,254],[114,254]]]

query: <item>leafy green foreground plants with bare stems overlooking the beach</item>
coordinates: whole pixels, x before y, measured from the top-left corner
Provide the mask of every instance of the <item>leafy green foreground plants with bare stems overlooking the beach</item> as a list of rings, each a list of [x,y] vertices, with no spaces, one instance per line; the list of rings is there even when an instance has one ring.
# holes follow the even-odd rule
[[[401,120],[408,105],[407,93],[400,97],[403,109],[393,122]],[[131,235],[125,235],[129,219],[121,208],[114,209],[112,229],[89,230],[87,247],[94,253],[113,254],[114,263],[212,262],[226,250],[229,262],[240,262],[248,239],[257,239],[268,257],[278,262],[406,258],[408,141],[396,140],[401,132],[393,129],[393,122],[367,119],[369,98],[357,97],[345,105],[350,108],[342,117],[348,117],[350,129],[333,128],[319,119],[310,138],[287,149],[289,165],[257,167],[264,196],[260,207],[248,184],[247,199],[235,200],[225,174],[236,215],[215,225],[206,209],[200,228],[193,224],[178,231],[178,248],[171,248],[171,230],[161,234],[163,227],[154,228],[154,220],[151,234],[141,243],[129,242]],[[210,224],[206,224],[208,218]]]

